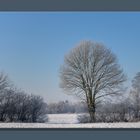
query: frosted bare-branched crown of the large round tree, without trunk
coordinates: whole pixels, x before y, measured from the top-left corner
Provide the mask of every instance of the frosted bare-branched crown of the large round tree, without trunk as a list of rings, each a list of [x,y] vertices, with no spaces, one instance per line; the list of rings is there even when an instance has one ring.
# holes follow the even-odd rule
[[[65,56],[61,69],[61,87],[67,90],[88,89],[96,95],[124,81],[116,56],[103,45],[91,41],[83,41],[73,48]]]

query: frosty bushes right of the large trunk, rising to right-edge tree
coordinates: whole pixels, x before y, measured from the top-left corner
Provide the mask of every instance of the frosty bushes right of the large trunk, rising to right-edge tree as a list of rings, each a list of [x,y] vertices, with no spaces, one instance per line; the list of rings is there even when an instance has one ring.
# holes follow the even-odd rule
[[[132,80],[127,96],[118,103],[107,102],[98,109],[97,121],[140,121],[140,72]]]

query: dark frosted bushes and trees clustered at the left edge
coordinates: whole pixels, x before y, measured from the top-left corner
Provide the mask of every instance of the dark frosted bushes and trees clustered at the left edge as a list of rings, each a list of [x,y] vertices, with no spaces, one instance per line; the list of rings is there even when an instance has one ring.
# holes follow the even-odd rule
[[[8,77],[3,73],[0,74],[1,122],[47,121],[46,106],[41,96],[13,88]]]

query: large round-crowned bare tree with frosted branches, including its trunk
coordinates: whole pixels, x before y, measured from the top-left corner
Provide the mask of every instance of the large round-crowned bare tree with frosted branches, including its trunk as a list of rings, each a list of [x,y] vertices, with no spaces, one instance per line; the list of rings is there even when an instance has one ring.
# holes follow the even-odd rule
[[[65,56],[60,78],[61,88],[87,103],[91,122],[96,105],[103,97],[116,95],[126,80],[111,50],[92,41],[82,41]]]

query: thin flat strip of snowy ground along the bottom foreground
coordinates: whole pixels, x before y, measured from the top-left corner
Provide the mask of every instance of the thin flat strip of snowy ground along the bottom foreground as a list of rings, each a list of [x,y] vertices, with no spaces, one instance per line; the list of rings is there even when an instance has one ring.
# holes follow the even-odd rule
[[[140,128],[140,122],[87,124],[0,123],[0,128]]]

